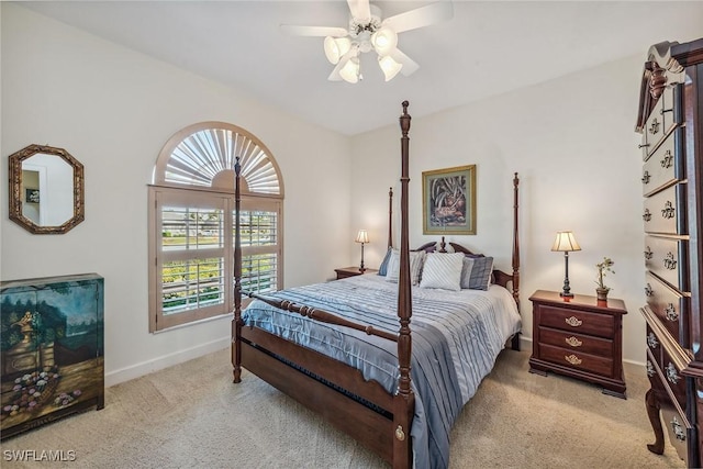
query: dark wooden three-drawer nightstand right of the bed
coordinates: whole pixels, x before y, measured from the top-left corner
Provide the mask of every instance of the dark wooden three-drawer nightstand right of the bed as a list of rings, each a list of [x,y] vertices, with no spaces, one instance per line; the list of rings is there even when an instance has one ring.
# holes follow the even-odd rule
[[[590,381],[603,393],[627,399],[623,373],[622,300],[598,301],[577,294],[537,290],[533,304],[533,348],[529,372],[547,371]]]

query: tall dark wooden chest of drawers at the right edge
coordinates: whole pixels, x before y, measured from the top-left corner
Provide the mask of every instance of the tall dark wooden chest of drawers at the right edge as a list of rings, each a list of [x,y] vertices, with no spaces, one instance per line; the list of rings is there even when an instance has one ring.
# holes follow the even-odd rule
[[[645,62],[641,133],[649,450],[669,440],[689,467],[703,442],[703,38],[660,43]],[[663,427],[663,428],[662,428]]]

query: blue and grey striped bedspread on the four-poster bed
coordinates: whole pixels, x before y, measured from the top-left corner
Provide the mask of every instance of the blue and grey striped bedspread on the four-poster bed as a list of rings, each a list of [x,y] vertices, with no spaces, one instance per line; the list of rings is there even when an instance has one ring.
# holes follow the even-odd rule
[[[291,288],[270,294],[398,333],[398,283],[375,273]],[[491,371],[505,340],[521,330],[510,292],[459,292],[412,287],[411,378],[415,416],[411,435],[416,468],[449,466],[449,433],[464,405]],[[395,393],[397,344],[362,332],[319,323],[253,301],[243,312],[255,325],[350,365],[365,379]]]

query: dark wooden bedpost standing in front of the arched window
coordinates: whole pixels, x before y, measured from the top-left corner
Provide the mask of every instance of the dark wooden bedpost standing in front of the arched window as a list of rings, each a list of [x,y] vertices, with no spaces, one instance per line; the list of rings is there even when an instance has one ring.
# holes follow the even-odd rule
[[[232,366],[234,382],[242,381],[242,236],[239,234],[239,205],[242,193],[239,174],[242,165],[237,156],[234,164],[234,319],[232,320]]]

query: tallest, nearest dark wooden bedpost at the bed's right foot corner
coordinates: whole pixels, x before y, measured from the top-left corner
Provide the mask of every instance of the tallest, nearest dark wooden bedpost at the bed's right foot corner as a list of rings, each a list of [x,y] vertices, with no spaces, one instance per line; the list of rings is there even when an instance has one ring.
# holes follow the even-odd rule
[[[398,278],[398,317],[400,319],[400,333],[398,337],[398,366],[400,369],[400,380],[398,382],[398,394],[395,397],[395,409],[393,412],[393,467],[412,467],[412,445],[410,437],[410,425],[415,412],[415,397],[410,387],[410,359],[412,354],[412,340],[410,336],[410,317],[412,316],[412,291],[410,278],[410,241],[408,223],[408,183],[409,158],[408,149],[410,138],[410,114],[408,114],[408,101],[403,101],[403,114],[400,116],[401,137],[401,235],[400,235],[400,272]]]

